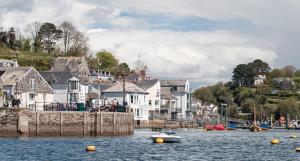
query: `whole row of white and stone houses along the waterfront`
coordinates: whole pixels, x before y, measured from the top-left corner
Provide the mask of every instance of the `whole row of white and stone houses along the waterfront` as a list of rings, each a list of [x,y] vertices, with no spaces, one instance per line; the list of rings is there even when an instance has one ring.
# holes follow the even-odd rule
[[[91,71],[84,57],[58,57],[50,71],[19,67],[15,61],[0,67],[0,104],[43,110],[53,104],[81,104],[97,108],[123,103],[123,82],[108,71]],[[9,64],[9,65],[8,65]],[[188,80],[159,80],[145,72],[126,77],[125,103],[138,123],[171,115],[191,119],[191,94]]]

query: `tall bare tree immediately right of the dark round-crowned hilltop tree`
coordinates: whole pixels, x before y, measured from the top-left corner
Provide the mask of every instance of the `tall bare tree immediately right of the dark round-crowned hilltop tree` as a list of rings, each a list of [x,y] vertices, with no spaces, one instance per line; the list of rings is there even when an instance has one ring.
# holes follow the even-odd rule
[[[63,43],[64,43],[64,52],[65,55],[67,55],[67,52],[70,48],[70,43],[72,39],[74,38],[74,34],[76,32],[75,27],[67,21],[64,21],[61,25],[60,28],[62,30],[62,38],[63,38]]]

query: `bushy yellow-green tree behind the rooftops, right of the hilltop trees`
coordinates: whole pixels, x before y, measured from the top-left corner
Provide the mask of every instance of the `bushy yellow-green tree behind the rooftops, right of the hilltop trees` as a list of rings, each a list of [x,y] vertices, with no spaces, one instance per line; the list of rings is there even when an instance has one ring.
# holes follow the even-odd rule
[[[99,66],[102,70],[113,70],[118,66],[118,60],[114,57],[111,52],[100,51],[96,53],[96,58],[99,60],[101,65]]]

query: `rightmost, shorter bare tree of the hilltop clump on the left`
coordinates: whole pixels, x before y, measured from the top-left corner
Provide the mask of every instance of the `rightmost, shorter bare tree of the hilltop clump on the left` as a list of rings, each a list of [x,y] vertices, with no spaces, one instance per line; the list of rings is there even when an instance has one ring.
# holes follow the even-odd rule
[[[76,31],[72,37],[72,46],[69,50],[69,55],[85,56],[88,52],[88,38],[84,33]]]

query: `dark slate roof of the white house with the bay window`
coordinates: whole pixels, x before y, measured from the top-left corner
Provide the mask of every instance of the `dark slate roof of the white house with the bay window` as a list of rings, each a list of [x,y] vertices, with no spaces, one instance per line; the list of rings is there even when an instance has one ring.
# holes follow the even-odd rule
[[[44,79],[49,83],[64,84],[73,77],[71,72],[40,72]]]

